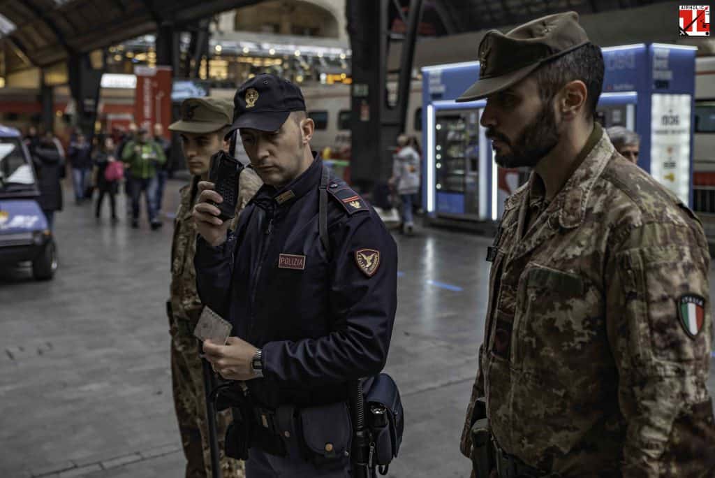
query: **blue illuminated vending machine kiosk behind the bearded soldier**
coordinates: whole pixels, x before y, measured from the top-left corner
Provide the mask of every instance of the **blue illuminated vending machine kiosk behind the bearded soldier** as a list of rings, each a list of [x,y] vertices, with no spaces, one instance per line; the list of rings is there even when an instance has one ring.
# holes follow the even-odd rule
[[[694,47],[633,44],[603,48],[605,72],[596,120],[641,138],[638,166],[690,205]],[[495,221],[528,170],[493,160],[479,119],[485,100],[457,103],[479,77],[479,63],[424,67],[423,204],[428,222]]]

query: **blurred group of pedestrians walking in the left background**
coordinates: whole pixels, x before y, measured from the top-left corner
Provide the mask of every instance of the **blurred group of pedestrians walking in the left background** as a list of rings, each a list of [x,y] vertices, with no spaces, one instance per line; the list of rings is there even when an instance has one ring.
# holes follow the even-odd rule
[[[93,204],[97,220],[102,218],[107,197],[109,218],[113,224],[119,222],[117,195],[123,190],[132,228],[139,228],[142,198],[152,230],[162,227],[164,186],[171,174],[171,143],[163,132],[163,125],[154,125],[150,132],[132,123],[126,130],[115,128],[89,139],[82,132],[72,132],[63,141],[52,132],[28,127],[24,142],[38,175],[39,203],[50,228],[55,213],[63,207],[60,181],[68,176],[74,204]]]

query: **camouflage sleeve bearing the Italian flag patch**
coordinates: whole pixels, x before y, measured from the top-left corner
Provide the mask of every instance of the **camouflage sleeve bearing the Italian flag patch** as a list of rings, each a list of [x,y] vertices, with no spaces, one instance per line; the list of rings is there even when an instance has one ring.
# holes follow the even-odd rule
[[[715,467],[707,452],[715,428],[706,389],[712,321],[704,235],[699,225],[646,224],[623,237],[605,275],[627,429],[623,477],[705,476]]]

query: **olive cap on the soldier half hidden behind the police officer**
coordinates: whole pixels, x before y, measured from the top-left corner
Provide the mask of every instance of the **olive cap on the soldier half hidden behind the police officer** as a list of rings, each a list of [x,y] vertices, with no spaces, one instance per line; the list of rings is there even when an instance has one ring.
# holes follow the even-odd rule
[[[227,99],[187,98],[181,104],[181,119],[169,125],[169,131],[210,133],[231,124],[233,105]]]

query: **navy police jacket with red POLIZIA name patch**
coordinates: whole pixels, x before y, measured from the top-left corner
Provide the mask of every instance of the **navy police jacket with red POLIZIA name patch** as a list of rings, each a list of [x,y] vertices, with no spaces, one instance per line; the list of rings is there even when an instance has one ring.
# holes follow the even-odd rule
[[[197,241],[202,303],[262,348],[264,377],[247,385],[264,406],[346,399],[347,381],[378,374],[388,357],[395,240],[362,197],[330,177],[329,257],[318,228],[321,174],[316,156],[282,189],[264,185],[224,244]]]

